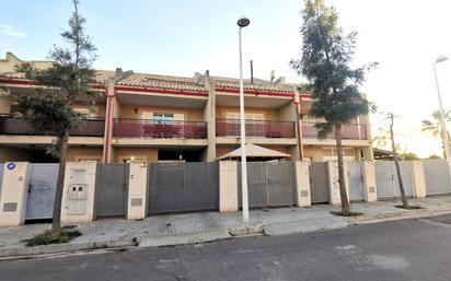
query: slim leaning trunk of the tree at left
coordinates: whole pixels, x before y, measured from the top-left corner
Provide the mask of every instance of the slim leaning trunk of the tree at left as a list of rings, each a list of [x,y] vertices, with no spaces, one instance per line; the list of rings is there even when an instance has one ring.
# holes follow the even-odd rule
[[[66,172],[66,152],[68,148],[69,130],[65,131],[61,137],[61,148],[59,152],[59,171],[57,179],[57,189],[54,204],[54,219],[51,222],[51,235],[59,236],[61,234],[61,204],[62,191],[65,187],[65,172]]]

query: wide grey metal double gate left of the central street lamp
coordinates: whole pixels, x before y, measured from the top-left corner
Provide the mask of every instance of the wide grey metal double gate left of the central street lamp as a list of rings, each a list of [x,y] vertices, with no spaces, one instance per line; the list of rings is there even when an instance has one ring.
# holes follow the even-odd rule
[[[149,214],[218,209],[218,163],[153,163],[149,177]]]

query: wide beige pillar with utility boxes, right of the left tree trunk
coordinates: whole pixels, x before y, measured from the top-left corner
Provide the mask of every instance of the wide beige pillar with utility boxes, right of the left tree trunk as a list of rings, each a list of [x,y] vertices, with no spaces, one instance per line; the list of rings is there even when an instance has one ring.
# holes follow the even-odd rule
[[[96,166],[94,161],[66,163],[61,223],[94,220]]]

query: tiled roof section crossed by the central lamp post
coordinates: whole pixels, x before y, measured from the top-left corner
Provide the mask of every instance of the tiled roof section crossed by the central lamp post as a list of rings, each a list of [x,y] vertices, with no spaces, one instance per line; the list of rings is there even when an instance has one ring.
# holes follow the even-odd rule
[[[224,78],[224,77],[211,77],[217,87],[240,87],[240,79]],[[278,92],[293,92],[293,87],[286,84],[279,84],[263,79],[255,79],[251,83],[250,79],[244,79],[244,89],[246,90],[261,90],[261,91],[278,91]]]

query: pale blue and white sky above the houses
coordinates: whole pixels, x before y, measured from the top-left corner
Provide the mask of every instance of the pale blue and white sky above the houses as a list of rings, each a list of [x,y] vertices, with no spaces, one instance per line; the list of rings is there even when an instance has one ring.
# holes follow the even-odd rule
[[[420,132],[423,119],[438,108],[433,61],[451,58],[449,0],[325,0],[339,13],[345,32],[358,32],[354,66],[379,62],[361,92],[375,103],[372,131],[388,128],[392,112],[396,138],[405,151],[441,154],[440,139]],[[0,0],[0,57],[12,51],[25,60],[46,59],[67,27],[69,0]],[[96,69],[117,67],[135,72],[192,77],[238,77],[236,20],[243,30],[244,73],[286,77],[300,83],[289,66],[301,58],[300,0],[81,0],[86,32],[97,47]],[[451,109],[451,59],[437,65],[443,107]],[[247,73],[247,74],[246,74]]]

